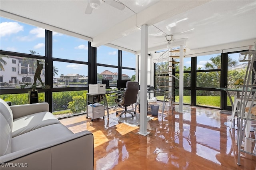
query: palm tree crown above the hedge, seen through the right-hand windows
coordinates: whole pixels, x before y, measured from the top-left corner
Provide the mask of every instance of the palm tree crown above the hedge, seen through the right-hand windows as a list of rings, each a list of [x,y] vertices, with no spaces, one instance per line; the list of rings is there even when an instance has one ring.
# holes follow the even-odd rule
[[[206,69],[221,69],[221,55],[216,55],[215,57],[211,57],[210,61],[204,65]],[[237,61],[228,56],[228,67],[233,67],[237,64]]]

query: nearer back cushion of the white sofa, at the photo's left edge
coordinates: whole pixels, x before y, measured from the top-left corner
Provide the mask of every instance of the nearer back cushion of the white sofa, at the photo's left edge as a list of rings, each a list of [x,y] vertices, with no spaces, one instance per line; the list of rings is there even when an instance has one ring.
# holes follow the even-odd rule
[[[0,114],[0,156],[12,152],[12,131],[4,115]]]

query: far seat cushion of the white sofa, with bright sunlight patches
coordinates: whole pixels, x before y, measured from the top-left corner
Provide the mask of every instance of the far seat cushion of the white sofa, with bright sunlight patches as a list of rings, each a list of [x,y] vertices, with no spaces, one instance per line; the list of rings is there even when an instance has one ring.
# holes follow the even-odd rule
[[[40,112],[20,117],[13,120],[12,137],[56,123],[60,123],[60,121],[50,112]]]

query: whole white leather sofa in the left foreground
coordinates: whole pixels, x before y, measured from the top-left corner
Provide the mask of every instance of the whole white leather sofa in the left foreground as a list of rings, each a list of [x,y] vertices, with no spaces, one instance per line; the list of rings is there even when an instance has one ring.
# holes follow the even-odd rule
[[[74,134],[48,103],[8,106],[0,99],[0,113],[1,170],[93,170],[93,134]]]

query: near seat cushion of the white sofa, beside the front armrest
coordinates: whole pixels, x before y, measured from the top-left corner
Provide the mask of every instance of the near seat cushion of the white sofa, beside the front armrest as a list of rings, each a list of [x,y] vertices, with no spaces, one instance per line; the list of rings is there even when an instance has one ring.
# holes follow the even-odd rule
[[[30,146],[43,146],[44,143],[52,143],[57,138],[74,134],[61,123],[41,127],[12,138],[12,152],[28,148]]]

